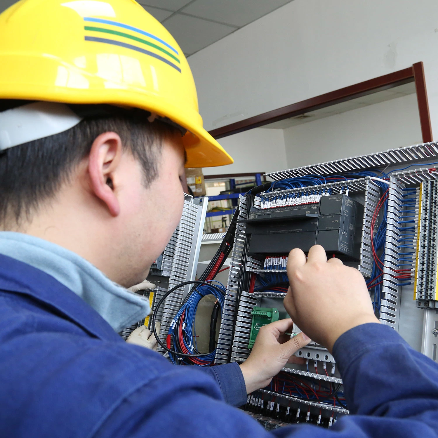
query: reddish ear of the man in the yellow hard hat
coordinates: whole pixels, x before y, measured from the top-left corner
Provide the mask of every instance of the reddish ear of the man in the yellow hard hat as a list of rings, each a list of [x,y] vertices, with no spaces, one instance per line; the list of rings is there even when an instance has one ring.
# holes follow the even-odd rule
[[[104,132],[96,137],[88,156],[90,189],[106,204],[112,216],[120,213],[114,173],[120,165],[121,156],[122,141],[115,132]]]

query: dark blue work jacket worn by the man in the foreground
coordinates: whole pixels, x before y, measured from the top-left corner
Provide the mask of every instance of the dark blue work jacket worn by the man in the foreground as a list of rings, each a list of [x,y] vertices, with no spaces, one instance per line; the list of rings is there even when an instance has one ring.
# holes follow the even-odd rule
[[[393,329],[360,325],[333,355],[353,415],[273,434],[438,436],[438,365]],[[125,343],[52,276],[0,255],[1,437],[268,437],[229,404],[245,398],[238,366],[208,370]]]

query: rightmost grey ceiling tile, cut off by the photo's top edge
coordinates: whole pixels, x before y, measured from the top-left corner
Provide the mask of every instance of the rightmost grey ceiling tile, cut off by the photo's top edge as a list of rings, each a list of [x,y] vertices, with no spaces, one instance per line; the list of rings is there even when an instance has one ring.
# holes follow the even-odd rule
[[[181,11],[222,23],[244,26],[291,0],[195,0]]]

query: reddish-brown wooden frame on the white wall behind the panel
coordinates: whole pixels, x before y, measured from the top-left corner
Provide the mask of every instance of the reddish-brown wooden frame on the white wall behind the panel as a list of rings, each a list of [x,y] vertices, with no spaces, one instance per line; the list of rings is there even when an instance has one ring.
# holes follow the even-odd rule
[[[394,71],[393,73],[385,74],[378,78],[369,79],[368,81],[340,88],[339,90],[321,94],[312,97],[311,99],[302,100],[301,102],[293,103],[292,105],[273,109],[267,113],[259,114],[258,116],[249,117],[248,119],[213,129],[210,131],[210,134],[212,134],[214,138],[226,137],[227,135],[237,134],[238,132],[277,122],[278,120],[299,116],[308,113],[309,111],[314,111],[315,109],[325,108],[326,106],[335,105],[340,102],[346,102],[347,100],[356,99],[357,97],[387,90],[409,82],[415,82],[418,112],[420,114],[421,134],[423,136],[423,142],[427,143],[428,141],[432,141],[433,138],[423,62],[417,62],[413,64],[412,67],[403,70]]]

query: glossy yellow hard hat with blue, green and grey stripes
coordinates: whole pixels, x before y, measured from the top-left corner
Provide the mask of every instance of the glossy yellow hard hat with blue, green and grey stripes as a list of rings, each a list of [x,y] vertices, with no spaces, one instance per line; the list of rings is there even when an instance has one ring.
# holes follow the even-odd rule
[[[0,15],[0,66],[0,99],[145,109],[187,129],[187,167],[233,162],[177,42],[134,0],[21,0]]]

